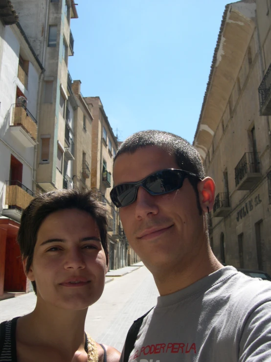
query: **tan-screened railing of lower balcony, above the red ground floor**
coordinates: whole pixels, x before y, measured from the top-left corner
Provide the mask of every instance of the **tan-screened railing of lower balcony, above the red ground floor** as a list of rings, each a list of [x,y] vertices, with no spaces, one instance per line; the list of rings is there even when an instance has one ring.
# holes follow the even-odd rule
[[[20,181],[6,181],[5,204],[8,209],[25,209],[35,194]]]

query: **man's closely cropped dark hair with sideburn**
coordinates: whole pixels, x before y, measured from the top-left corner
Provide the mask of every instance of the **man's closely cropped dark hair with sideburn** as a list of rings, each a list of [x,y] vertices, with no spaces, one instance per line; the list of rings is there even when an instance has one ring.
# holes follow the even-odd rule
[[[175,158],[180,169],[195,173],[201,179],[205,177],[203,162],[196,148],[180,136],[165,131],[148,130],[134,133],[119,146],[114,161],[122,153],[134,153],[138,148],[147,146],[163,148]],[[197,188],[198,180],[190,177],[189,181],[195,190],[199,213],[202,215]]]

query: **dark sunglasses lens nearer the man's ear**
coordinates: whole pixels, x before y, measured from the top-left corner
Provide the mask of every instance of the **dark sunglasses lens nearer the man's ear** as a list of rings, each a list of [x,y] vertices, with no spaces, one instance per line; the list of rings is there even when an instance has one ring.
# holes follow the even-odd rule
[[[168,193],[181,187],[181,173],[166,169],[150,175],[146,179],[146,188],[154,194]]]

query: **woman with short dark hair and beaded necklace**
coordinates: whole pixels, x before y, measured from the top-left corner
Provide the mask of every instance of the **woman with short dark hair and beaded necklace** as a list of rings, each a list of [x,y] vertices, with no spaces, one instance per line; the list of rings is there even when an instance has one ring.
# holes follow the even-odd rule
[[[84,331],[108,268],[104,206],[74,189],[37,196],[23,211],[18,243],[37,303],[0,324],[0,362],[118,362],[117,350]]]

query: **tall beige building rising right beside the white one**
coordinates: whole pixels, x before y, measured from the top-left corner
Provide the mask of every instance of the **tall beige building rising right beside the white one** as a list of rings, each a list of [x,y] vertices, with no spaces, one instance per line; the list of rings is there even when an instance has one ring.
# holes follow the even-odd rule
[[[73,55],[71,19],[78,18],[74,0],[15,0],[21,24],[42,61],[36,182],[40,192],[72,187],[74,110],[69,101]]]

